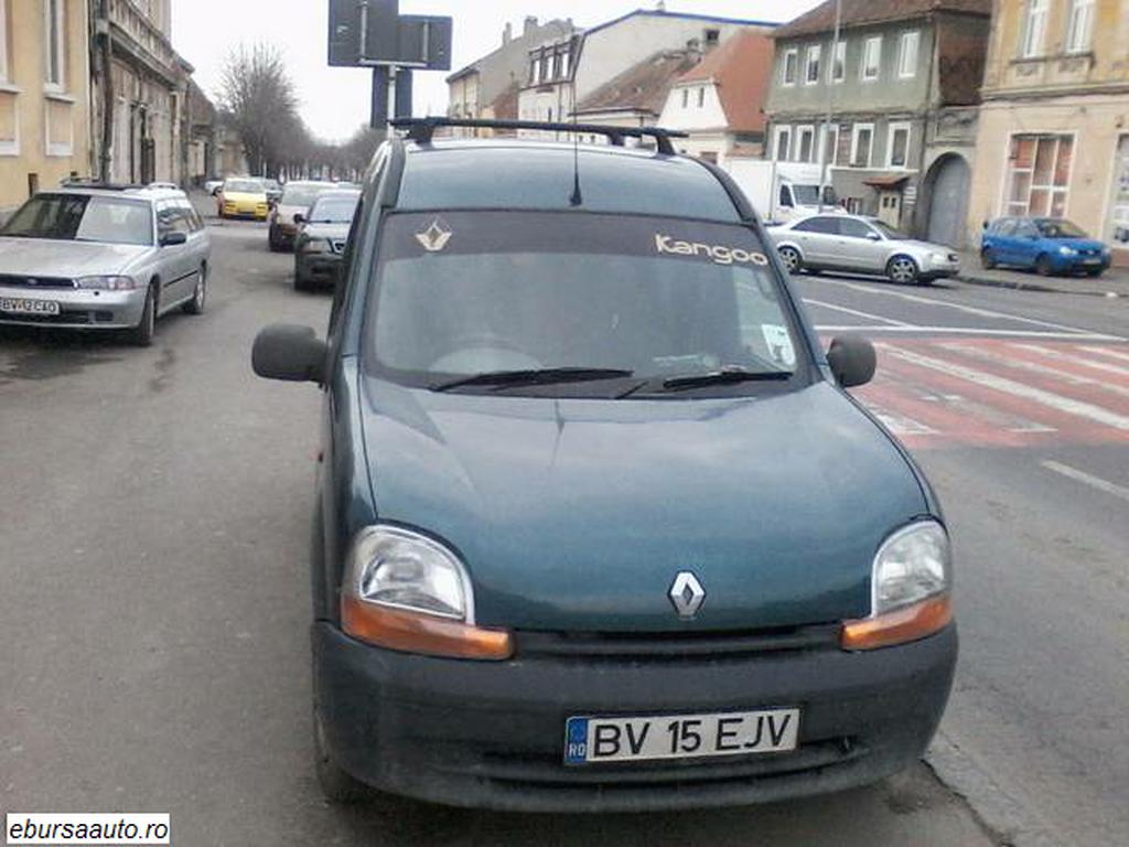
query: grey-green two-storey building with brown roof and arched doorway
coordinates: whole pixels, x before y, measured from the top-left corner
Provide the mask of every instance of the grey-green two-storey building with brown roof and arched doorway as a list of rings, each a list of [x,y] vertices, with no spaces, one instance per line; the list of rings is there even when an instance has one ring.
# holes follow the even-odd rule
[[[849,210],[963,246],[990,0],[842,0],[832,44],[834,9],[773,34],[770,156],[826,163]]]

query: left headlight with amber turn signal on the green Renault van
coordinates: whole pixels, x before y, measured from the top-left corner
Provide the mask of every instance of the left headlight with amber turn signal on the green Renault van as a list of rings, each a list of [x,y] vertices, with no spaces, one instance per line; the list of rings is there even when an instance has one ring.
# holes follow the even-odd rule
[[[506,630],[474,625],[466,569],[445,544],[414,530],[362,530],[345,565],[341,626],[368,644],[450,658],[505,660]]]

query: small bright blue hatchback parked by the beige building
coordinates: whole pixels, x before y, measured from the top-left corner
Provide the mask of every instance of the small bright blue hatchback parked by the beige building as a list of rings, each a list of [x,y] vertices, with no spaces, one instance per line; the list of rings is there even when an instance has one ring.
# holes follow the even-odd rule
[[[1110,267],[1110,248],[1065,218],[998,218],[980,243],[984,268],[1030,268],[1043,277],[1086,273],[1100,277]]]

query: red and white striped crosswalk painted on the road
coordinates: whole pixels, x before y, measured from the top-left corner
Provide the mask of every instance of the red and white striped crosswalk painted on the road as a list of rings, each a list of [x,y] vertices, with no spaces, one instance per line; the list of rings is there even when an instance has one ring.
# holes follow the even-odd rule
[[[1041,338],[876,341],[855,392],[909,447],[1129,442],[1129,344]]]

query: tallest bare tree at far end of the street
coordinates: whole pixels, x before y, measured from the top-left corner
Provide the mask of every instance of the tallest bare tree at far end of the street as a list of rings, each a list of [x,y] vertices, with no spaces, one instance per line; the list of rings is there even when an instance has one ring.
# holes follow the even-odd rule
[[[224,60],[219,103],[243,139],[251,172],[275,175],[292,152],[285,149],[290,133],[300,126],[305,134],[294,80],[279,50],[270,44],[231,50]]]

